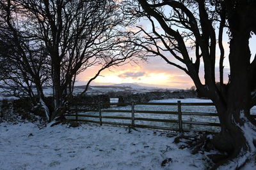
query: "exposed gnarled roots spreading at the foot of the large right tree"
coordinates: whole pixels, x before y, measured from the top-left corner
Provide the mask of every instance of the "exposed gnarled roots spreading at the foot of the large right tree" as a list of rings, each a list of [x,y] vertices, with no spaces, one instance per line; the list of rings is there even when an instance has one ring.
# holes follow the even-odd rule
[[[180,149],[190,148],[192,154],[198,152],[209,152],[211,150],[218,150],[221,154],[210,154],[207,155],[209,159],[212,160],[214,166],[211,167],[211,170],[215,169],[242,169],[243,167],[248,166],[249,168],[256,169],[256,154],[255,152],[240,152],[236,148],[226,148],[225,150],[220,150],[217,148],[214,143],[219,139],[220,136],[216,135],[217,138],[212,138],[212,134],[209,132],[203,132],[199,134],[192,135],[182,135],[174,139],[173,143],[177,143]],[[221,145],[223,141],[220,141]],[[254,141],[253,141],[254,144]],[[220,146],[220,145],[218,145]],[[224,146],[224,145],[223,145]],[[227,152],[227,150],[229,152]],[[228,153],[228,154],[227,154]]]

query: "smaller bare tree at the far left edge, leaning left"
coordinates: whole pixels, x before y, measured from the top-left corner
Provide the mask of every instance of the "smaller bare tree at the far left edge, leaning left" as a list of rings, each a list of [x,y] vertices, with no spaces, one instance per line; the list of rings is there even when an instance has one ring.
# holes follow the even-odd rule
[[[23,38],[19,29],[16,6],[11,1],[0,3],[0,81],[16,97],[28,96],[36,104],[36,96],[45,106],[42,86],[49,78],[45,47],[33,39]],[[33,90],[36,88],[36,93]],[[49,118],[49,110],[45,116]]]

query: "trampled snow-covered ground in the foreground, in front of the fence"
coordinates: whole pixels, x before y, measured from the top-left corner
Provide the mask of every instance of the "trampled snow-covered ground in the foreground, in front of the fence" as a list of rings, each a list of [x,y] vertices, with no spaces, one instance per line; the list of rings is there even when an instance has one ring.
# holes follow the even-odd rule
[[[0,169],[205,169],[209,154],[191,155],[164,131],[82,124],[38,129],[0,124]],[[172,158],[166,167],[164,159]]]

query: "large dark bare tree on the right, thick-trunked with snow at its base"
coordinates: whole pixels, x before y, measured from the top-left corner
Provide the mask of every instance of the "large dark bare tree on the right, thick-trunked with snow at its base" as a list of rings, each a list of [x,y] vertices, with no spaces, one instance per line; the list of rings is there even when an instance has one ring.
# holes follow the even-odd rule
[[[256,124],[250,117],[250,109],[256,104],[256,57],[251,56],[249,39],[256,33],[256,1],[127,0],[124,3],[127,15],[147,18],[152,28],[148,31],[138,26],[140,31],[131,34],[136,41],[127,41],[183,70],[200,94],[215,104],[221,132],[213,141],[229,157],[214,168],[226,169],[225,164],[232,164],[232,168],[239,169],[246,162],[253,162]],[[224,28],[230,38],[228,83],[223,81]],[[216,85],[217,48],[220,48],[220,85]],[[204,82],[200,80],[200,66],[204,66]]]

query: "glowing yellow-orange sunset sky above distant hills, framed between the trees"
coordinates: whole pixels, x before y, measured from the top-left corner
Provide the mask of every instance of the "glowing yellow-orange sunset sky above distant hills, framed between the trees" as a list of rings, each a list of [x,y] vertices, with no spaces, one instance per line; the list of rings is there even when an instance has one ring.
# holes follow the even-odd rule
[[[91,85],[113,85],[118,83],[138,83],[139,85],[186,89],[193,86],[189,76],[173,66],[166,64],[159,57],[139,64],[125,64],[102,71]],[[80,74],[79,85],[84,85],[95,74],[97,68]],[[81,83],[81,82],[84,83]]]

